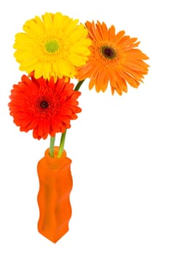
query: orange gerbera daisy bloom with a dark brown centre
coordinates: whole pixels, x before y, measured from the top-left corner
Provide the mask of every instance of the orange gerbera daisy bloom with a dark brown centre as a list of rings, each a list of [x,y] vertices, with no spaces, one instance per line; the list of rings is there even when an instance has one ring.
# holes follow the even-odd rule
[[[148,57],[136,49],[137,38],[125,36],[125,31],[115,34],[115,26],[107,29],[105,23],[87,21],[88,37],[92,40],[91,55],[85,66],[77,69],[77,78],[90,78],[89,89],[106,91],[110,83],[112,94],[127,92],[127,83],[134,88],[139,86],[147,74],[149,65],[143,60]]]

